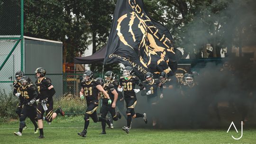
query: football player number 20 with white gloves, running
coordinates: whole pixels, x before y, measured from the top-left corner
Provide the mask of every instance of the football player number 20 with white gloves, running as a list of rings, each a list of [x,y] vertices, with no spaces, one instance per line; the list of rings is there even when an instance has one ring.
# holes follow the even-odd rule
[[[140,90],[144,89],[143,84],[140,82],[139,78],[137,76],[131,75],[132,73],[132,67],[127,66],[125,67],[123,71],[123,77],[119,80],[119,86],[118,91],[124,90],[124,99],[126,102],[126,114],[127,114],[127,126],[123,126],[122,130],[124,130],[127,134],[129,133],[132,117],[143,117],[145,123],[147,123],[146,119],[146,113],[140,114],[135,113],[134,108],[137,103],[136,93],[138,93]],[[135,89],[135,85],[138,85],[140,88]]]

